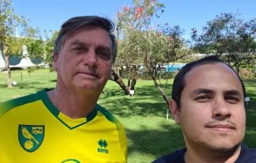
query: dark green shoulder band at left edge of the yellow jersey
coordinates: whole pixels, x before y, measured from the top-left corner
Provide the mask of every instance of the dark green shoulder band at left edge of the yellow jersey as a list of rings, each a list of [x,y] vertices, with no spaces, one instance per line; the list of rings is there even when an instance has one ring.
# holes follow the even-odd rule
[[[3,116],[3,114],[8,112],[9,110],[17,108],[18,106],[25,105],[27,103],[34,102],[38,99],[38,95],[34,93],[30,95],[25,95],[23,97],[10,99],[9,101],[0,102],[0,117]]]

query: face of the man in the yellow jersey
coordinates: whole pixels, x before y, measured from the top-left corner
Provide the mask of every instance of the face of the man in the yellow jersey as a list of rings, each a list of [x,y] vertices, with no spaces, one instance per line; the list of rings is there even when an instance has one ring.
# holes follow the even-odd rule
[[[54,58],[58,87],[100,92],[109,79],[112,42],[107,31],[86,27],[67,38]]]

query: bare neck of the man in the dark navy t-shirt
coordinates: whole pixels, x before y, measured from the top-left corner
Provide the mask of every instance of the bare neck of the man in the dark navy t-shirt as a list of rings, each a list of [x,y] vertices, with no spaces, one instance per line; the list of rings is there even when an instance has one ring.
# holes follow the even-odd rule
[[[241,145],[233,151],[207,151],[206,149],[196,150],[192,147],[187,147],[184,154],[184,160],[186,163],[198,162],[198,163],[233,163],[239,157],[241,151]]]

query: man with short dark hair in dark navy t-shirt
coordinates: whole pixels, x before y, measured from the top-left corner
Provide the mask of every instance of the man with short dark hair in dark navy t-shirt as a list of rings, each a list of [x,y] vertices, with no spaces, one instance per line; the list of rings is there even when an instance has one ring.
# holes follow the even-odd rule
[[[242,143],[246,131],[243,81],[212,55],[186,64],[174,79],[170,110],[185,149],[154,162],[256,162]]]

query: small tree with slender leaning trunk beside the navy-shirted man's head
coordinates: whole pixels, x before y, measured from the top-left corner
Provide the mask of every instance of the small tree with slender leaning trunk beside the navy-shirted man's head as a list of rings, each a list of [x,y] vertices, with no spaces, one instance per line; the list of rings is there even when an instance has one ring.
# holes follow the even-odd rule
[[[160,26],[157,31],[141,32],[140,39],[137,40],[138,43],[140,42],[140,50],[144,56],[144,66],[167,106],[169,97],[164,92],[164,88],[170,79],[170,73],[162,72],[161,68],[163,65],[174,63],[191,53],[191,50],[186,48],[185,40],[181,37],[182,32],[183,30],[178,25],[169,27],[168,24],[165,24]],[[165,80],[164,83],[162,80]]]

